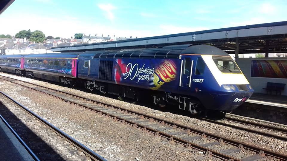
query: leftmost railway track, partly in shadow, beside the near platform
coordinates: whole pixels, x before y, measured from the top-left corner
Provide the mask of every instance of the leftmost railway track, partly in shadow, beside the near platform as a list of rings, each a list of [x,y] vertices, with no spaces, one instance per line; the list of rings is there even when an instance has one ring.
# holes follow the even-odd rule
[[[32,155],[32,157],[35,160],[50,160],[53,158],[56,160],[64,160],[59,154],[57,154],[58,152],[54,151],[51,147],[49,147],[49,145],[47,145],[42,140],[42,138],[38,137],[36,134],[34,134],[33,132],[29,130],[29,129],[38,129],[38,128],[41,129],[42,126],[44,125],[45,129],[41,129],[41,132],[39,132],[41,137],[43,137],[42,135],[48,135],[48,137],[53,138],[51,140],[54,140],[55,144],[58,144],[58,145],[60,144],[59,146],[62,145],[63,148],[65,148],[68,152],[71,152],[72,156],[74,154],[74,158],[80,157],[83,159],[83,157],[86,156],[85,159],[88,159],[88,160],[106,161],[103,157],[101,157],[100,155],[92,151],[91,149],[87,148],[85,145],[81,144],[74,138],[70,137],[68,134],[61,131],[60,129],[58,129],[57,127],[55,127],[48,121],[44,120],[42,117],[30,111],[25,106],[22,106],[16,100],[13,100],[11,97],[7,96],[1,91],[0,91],[0,97],[1,97],[2,102],[6,104],[6,106],[7,105],[10,106],[10,108],[8,109],[8,108],[3,108],[3,105],[2,105],[0,112],[4,113],[3,116],[8,119],[8,122],[9,121],[11,122],[10,129],[13,129],[12,126],[14,126],[16,129],[15,131],[18,131],[17,132],[19,134],[18,140],[21,141],[22,145],[24,145],[24,147],[28,150],[28,152]],[[10,112],[10,110],[13,110],[14,112],[16,111],[16,113],[20,113],[21,119],[18,120],[19,116],[18,118],[16,118],[16,116],[12,112]],[[4,117],[1,116],[1,119],[3,120]],[[19,126],[19,122],[26,122],[29,126],[25,126],[25,124],[21,124]],[[25,143],[21,138],[25,138]],[[57,139],[57,138],[61,138],[61,139]]]

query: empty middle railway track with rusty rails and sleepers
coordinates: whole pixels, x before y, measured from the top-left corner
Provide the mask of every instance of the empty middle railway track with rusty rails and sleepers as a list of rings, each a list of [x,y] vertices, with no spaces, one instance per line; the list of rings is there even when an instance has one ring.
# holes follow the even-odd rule
[[[177,142],[187,148],[194,148],[204,153],[205,157],[218,157],[222,160],[258,160],[279,159],[287,160],[287,155],[248,145],[216,134],[207,133],[183,126],[160,118],[135,112],[121,107],[112,106],[97,100],[77,96],[33,83],[20,81],[14,78],[1,76],[0,79],[10,81],[17,85],[56,97],[65,102],[78,105],[87,110],[110,117],[115,121],[129,124],[134,128],[149,131],[157,136],[164,137],[170,143]],[[263,126],[263,125],[262,125]]]

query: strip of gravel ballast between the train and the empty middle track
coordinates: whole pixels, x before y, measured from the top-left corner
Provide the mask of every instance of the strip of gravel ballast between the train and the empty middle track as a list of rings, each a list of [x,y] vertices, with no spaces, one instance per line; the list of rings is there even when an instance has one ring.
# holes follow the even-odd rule
[[[206,122],[203,120],[198,120],[196,118],[183,116],[180,114],[174,114],[174,113],[170,113],[170,112],[162,112],[159,110],[151,109],[149,107],[140,106],[140,105],[136,105],[136,104],[132,104],[132,103],[127,103],[124,101],[100,96],[100,95],[93,94],[93,93],[86,93],[86,92],[83,92],[80,90],[71,89],[71,88],[67,88],[64,86],[59,86],[59,85],[47,83],[44,81],[38,81],[38,80],[25,78],[25,77],[19,77],[16,75],[10,75],[10,74],[6,74],[6,73],[1,73],[0,75],[9,76],[11,78],[16,78],[16,79],[31,82],[31,83],[36,83],[36,84],[39,84],[42,86],[47,86],[49,88],[54,88],[54,89],[62,90],[65,92],[70,92],[70,93],[73,93],[76,95],[81,95],[83,97],[88,97],[91,99],[100,100],[103,102],[114,104],[115,106],[122,106],[126,109],[131,109],[131,110],[134,110],[137,112],[142,112],[142,113],[145,113],[145,114],[148,114],[151,116],[155,116],[155,117],[159,117],[159,118],[162,118],[165,120],[169,120],[172,122],[183,124],[185,126],[190,126],[190,127],[196,128],[196,129],[200,129],[202,131],[207,131],[210,133],[218,134],[218,135],[221,135],[223,137],[227,137],[227,138],[234,139],[234,140],[244,142],[247,144],[259,146],[261,148],[266,148],[268,150],[273,150],[273,151],[276,151],[276,152],[279,152],[282,154],[287,154],[287,143],[285,141],[257,135],[257,134],[242,131],[242,130],[233,129],[230,127],[225,127],[225,126],[218,125],[215,123],[209,123],[209,122]],[[284,127],[282,127],[282,128],[284,128]]]

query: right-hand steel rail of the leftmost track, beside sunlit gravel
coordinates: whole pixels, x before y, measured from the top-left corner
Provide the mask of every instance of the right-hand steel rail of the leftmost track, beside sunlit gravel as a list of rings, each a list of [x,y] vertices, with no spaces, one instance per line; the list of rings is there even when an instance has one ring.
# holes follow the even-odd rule
[[[84,154],[86,154],[87,157],[90,157],[91,160],[101,160],[101,161],[106,161],[106,159],[104,159],[103,157],[101,157],[99,154],[95,153],[94,151],[92,151],[91,149],[87,148],[85,145],[83,145],[82,143],[78,142],[77,140],[75,140],[74,138],[72,138],[71,136],[69,136],[68,134],[66,134],[65,132],[63,132],[62,130],[58,129],[56,126],[52,125],[51,123],[49,123],[48,121],[44,120],[42,117],[40,117],[39,115],[35,114],[34,112],[32,112],[31,110],[29,110],[27,107],[21,105],[20,103],[18,103],[16,100],[14,100],[13,98],[9,97],[8,95],[6,95],[5,93],[3,93],[2,91],[0,91],[0,93],[2,95],[4,95],[5,97],[7,97],[8,99],[10,99],[11,101],[13,101],[15,104],[17,104],[19,107],[21,107],[22,109],[24,109],[26,112],[28,112],[29,114],[31,114],[34,118],[36,118],[37,120],[39,120],[41,123],[44,123],[49,129],[51,129],[52,131],[56,132],[57,134],[59,134],[62,138],[64,138],[66,141],[68,141],[69,143],[71,143],[72,145],[74,145],[78,150],[82,151]]]

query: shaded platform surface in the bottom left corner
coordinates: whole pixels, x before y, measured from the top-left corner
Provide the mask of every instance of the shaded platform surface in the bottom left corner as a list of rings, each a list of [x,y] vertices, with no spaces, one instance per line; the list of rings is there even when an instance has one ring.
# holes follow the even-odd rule
[[[34,161],[16,136],[0,119],[0,158],[1,160]]]

